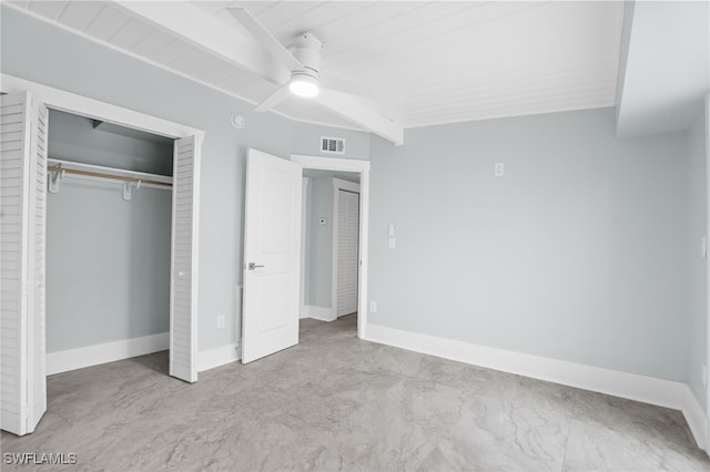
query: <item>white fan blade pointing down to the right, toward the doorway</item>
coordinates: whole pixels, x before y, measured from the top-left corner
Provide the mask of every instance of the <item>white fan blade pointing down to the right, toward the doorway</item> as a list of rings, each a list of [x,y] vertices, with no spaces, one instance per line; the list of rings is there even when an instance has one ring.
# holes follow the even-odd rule
[[[320,103],[336,115],[393,142],[395,145],[404,144],[404,126],[396,120],[367,106],[363,103],[364,99],[357,95],[321,89],[321,93],[311,100]]]

